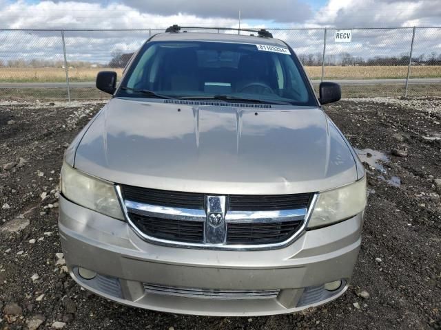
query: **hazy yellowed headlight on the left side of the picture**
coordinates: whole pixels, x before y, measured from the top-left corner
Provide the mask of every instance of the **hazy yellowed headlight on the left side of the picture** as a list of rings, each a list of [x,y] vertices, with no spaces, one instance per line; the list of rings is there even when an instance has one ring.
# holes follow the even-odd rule
[[[85,208],[123,220],[114,185],[81,173],[64,163],[61,168],[61,192],[63,195]]]

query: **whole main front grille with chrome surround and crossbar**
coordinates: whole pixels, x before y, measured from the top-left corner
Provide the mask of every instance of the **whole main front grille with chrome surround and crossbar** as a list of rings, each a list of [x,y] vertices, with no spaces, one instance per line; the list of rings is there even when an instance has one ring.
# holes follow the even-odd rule
[[[167,240],[167,244],[176,242],[178,246],[191,243],[202,248],[281,246],[299,234],[314,197],[314,193],[304,193],[224,198],[196,192],[121,188],[127,217],[147,241],[163,244],[161,240]],[[215,199],[222,205],[213,211],[205,203]]]

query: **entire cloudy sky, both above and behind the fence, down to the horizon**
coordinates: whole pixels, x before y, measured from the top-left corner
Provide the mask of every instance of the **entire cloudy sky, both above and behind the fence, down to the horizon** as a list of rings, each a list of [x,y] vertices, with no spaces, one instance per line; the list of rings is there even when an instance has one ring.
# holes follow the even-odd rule
[[[400,56],[409,54],[413,26],[441,26],[441,0],[0,0],[0,63],[15,58],[63,60],[61,32],[2,29],[163,29],[181,26],[272,30],[298,54]],[[409,27],[401,30],[356,28]],[[335,43],[333,29],[354,28],[351,43]],[[316,30],[314,30],[316,29]],[[68,61],[108,63],[115,52],[136,51],[144,31],[65,32]],[[441,54],[441,28],[420,29],[414,55]]]

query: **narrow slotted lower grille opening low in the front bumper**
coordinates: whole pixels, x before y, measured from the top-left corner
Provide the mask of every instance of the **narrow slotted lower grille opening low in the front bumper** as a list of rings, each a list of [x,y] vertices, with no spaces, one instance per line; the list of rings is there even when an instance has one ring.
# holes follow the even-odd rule
[[[165,285],[144,283],[145,292],[187,298],[205,299],[271,299],[276,298],[280,290],[223,290],[191,287],[168,287]]]

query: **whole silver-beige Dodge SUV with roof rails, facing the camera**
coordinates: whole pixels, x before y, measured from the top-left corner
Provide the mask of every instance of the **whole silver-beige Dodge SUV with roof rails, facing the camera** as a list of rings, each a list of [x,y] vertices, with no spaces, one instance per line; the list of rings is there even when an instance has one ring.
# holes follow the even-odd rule
[[[118,303],[282,314],[348,287],[366,175],[287,43],[183,33],[132,56],[65,153],[59,233],[70,275]]]

